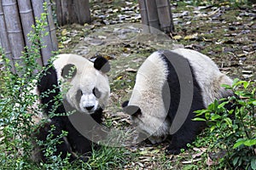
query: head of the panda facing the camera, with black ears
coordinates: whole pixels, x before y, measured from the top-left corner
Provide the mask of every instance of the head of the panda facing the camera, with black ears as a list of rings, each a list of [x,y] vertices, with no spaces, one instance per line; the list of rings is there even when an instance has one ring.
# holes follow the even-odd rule
[[[110,70],[108,59],[97,57],[92,63],[79,55],[61,54],[54,65],[63,98],[73,109],[92,114],[105,108],[110,94],[106,75]]]

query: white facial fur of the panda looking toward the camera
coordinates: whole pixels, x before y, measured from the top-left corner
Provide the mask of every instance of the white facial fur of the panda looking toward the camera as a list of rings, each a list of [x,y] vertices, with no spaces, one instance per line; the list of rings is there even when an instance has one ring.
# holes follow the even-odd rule
[[[67,94],[64,97],[67,99],[68,103],[76,108],[78,111],[84,113],[93,113],[99,107],[102,109],[108,103],[110,88],[108,83],[108,77],[102,71],[97,71],[93,63],[88,59],[76,54],[60,54],[56,56],[54,61],[54,66],[57,71],[57,77],[59,80],[63,81],[61,77],[61,70],[67,64],[76,65],[77,73],[75,77],[68,82]],[[61,88],[64,88],[63,85]],[[97,99],[92,93],[93,88],[98,88],[101,92],[100,99]],[[77,103],[76,94],[77,90],[80,89],[83,92],[81,95],[80,103]],[[94,105],[91,111],[87,111],[85,107]]]

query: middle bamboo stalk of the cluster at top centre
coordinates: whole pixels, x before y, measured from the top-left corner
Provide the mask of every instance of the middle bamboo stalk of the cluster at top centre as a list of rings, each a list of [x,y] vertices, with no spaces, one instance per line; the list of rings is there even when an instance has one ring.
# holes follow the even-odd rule
[[[148,9],[148,26],[151,33],[160,30],[160,22],[158,19],[157,8],[155,0],[146,0],[146,7]]]

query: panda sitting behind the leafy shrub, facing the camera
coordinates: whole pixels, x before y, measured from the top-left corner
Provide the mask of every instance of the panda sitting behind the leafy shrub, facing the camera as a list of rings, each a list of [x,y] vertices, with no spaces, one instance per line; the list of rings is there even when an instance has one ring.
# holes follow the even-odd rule
[[[61,158],[65,158],[68,153],[70,161],[89,156],[92,142],[79,133],[68,114],[72,115],[75,111],[85,116],[86,120],[80,121],[86,132],[93,129],[94,121],[102,122],[102,111],[110,95],[106,75],[109,70],[108,59],[103,57],[97,57],[93,63],[77,54],[57,55],[52,65],[43,71],[34,90],[49,121],[39,124],[32,134],[33,138],[44,142],[54,125],[53,138],[57,138],[62,131],[67,132],[67,136],[56,144],[55,156],[61,154]],[[58,96],[61,99],[57,99]],[[43,146],[35,144],[32,160],[47,161],[44,150]]]

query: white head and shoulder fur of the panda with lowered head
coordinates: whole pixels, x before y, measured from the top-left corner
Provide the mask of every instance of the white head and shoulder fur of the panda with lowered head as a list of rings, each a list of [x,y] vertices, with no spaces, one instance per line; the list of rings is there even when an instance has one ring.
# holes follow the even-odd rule
[[[139,106],[143,113],[142,116],[132,117],[138,129],[163,139],[166,138],[170,127],[170,123],[165,121],[167,112],[161,94],[167,74],[168,68],[160,54],[151,54],[137,71],[136,84],[129,101],[129,105]],[[152,143],[160,142],[159,139],[153,139],[154,137],[151,139]]]

